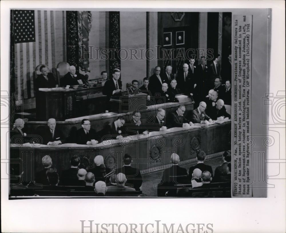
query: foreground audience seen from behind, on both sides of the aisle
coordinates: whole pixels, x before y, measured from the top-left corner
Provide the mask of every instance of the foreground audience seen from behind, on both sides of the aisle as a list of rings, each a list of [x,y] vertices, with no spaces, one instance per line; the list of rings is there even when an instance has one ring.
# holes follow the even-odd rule
[[[189,188],[209,188],[210,183],[230,182],[231,181],[231,153],[224,152],[223,164],[215,169],[212,175],[212,167],[204,164],[205,153],[200,151],[197,153],[197,164],[189,168],[189,172],[185,168],[181,168],[178,163],[180,158],[177,154],[171,155],[172,166],[163,171],[162,180],[158,184],[158,196],[183,196],[186,190],[174,189],[174,185],[189,184]],[[42,184],[43,188],[38,190],[47,191],[64,191],[67,188],[73,188],[75,191],[95,191],[95,196],[122,196],[124,194],[139,195],[142,190],[142,176],[138,168],[131,166],[132,157],[125,154],[123,158],[123,166],[118,169],[110,170],[104,165],[104,158],[98,155],[94,158],[94,167],[88,169],[81,164],[81,158],[77,155],[72,156],[70,160],[71,167],[63,170],[61,174],[57,172],[53,166],[52,159],[49,155],[42,158],[44,169],[35,173],[33,184],[24,184],[21,182],[23,174],[23,164],[11,164],[11,174],[17,179],[10,181],[13,190],[17,188],[27,188],[30,190],[29,195],[33,195],[31,191],[36,184]],[[84,168],[82,168],[84,167]],[[153,184],[151,184],[153,186]],[[28,188],[29,187],[29,188]],[[107,187],[107,188],[106,188]],[[188,189],[187,189],[188,190]],[[37,191],[35,191],[37,194]],[[11,192],[13,196],[13,192]]]

